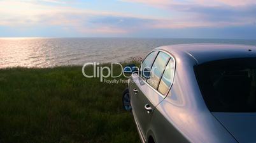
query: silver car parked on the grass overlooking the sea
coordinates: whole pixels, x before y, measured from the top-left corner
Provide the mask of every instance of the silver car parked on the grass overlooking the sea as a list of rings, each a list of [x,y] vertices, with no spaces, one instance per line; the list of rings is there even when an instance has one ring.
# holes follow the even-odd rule
[[[157,47],[136,69],[123,103],[142,142],[256,142],[256,47]]]

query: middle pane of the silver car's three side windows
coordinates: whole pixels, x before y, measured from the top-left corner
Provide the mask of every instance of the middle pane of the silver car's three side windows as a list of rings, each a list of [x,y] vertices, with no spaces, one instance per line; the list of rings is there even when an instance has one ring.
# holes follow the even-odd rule
[[[159,52],[157,58],[155,59],[152,69],[150,71],[150,78],[146,80],[148,84],[152,85],[154,89],[157,89],[157,85],[159,84],[159,80],[162,76],[164,68],[166,67],[167,61],[170,56],[166,53]]]

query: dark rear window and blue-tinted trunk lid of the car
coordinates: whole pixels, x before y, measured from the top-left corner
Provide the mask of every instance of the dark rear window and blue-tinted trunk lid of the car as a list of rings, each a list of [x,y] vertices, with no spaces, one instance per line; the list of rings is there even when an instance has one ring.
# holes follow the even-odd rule
[[[194,66],[206,106],[238,142],[256,142],[256,58]]]

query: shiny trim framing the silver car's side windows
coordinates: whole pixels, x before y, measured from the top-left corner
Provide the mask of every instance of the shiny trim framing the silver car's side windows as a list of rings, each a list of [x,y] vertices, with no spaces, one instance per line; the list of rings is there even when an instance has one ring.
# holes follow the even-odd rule
[[[159,83],[157,84],[157,89],[153,88],[152,85],[148,84],[148,82],[146,82],[146,80],[144,80],[144,79],[141,78],[140,76],[138,76],[138,77],[139,77],[139,79],[142,80],[146,85],[148,85],[148,87],[150,87],[150,88],[153,89],[157,94],[159,94],[159,96],[161,96],[162,98],[165,98],[165,97],[169,94],[169,92],[170,92],[170,90],[171,90],[171,87],[173,87],[174,77],[175,77],[175,75],[176,75],[176,58],[174,57],[173,54],[169,53],[169,51],[166,51],[166,50],[164,50],[164,49],[154,49],[154,50],[151,51],[149,54],[151,54],[151,53],[154,52],[154,51],[157,51],[157,56],[158,56],[159,52],[166,53],[166,54],[168,54],[168,55],[170,56],[170,58],[168,59],[168,62],[166,63],[166,65],[168,65],[168,63],[169,63],[169,61],[171,60],[171,58],[173,59],[173,63],[174,63],[173,79],[171,79],[172,82],[171,82],[171,85],[170,85],[169,89],[167,90],[166,94],[163,95],[163,94],[161,94],[161,93],[159,92],[159,90],[158,90],[160,81],[162,80],[162,75],[164,74],[164,71],[166,70],[166,67],[164,68],[164,71],[162,72],[162,75],[161,75],[161,78],[160,78],[160,80],[159,80]],[[149,55],[149,54],[148,54],[148,55]],[[148,56],[148,55],[147,55],[147,56]],[[147,57],[147,56],[146,56],[146,57]],[[155,56],[155,59],[157,58],[157,56]],[[145,59],[146,59],[146,58],[145,58]],[[144,61],[145,59],[143,59],[143,61]],[[151,68],[152,68],[152,66],[153,66],[153,63],[155,62],[155,59],[154,59],[153,62],[152,62]],[[143,63],[143,61],[142,61],[141,63]],[[139,66],[139,68],[140,68],[140,66]]]

